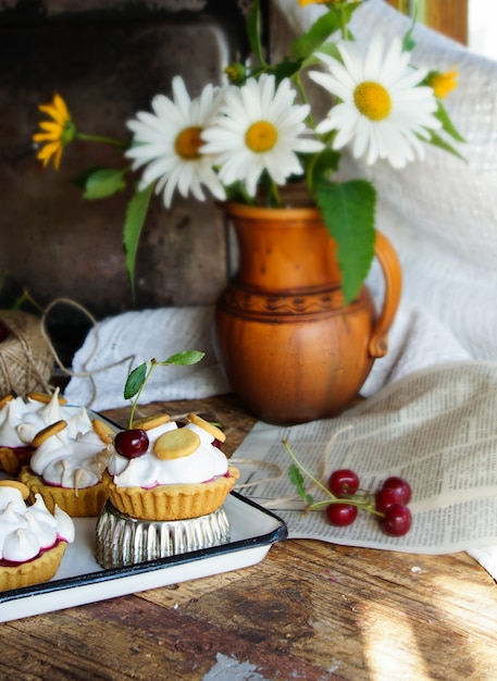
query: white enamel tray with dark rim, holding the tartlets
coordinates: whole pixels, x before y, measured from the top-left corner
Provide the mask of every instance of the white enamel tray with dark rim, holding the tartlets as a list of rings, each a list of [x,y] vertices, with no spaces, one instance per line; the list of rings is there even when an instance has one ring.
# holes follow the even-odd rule
[[[287,536],[284,521],[232,492],[224,504],[231,541],[221,546],[104,570],[95,559],[96,518],[75,518],[76,538],[50,582],[0,593],[0,622],[115,598],[260,562]]]

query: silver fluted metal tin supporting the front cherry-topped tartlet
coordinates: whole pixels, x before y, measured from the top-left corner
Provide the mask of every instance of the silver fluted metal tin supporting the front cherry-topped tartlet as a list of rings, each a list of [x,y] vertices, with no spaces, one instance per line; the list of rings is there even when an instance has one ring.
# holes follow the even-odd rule
[[[110,500],[97,520],[97,561],[105,569],[187,554],[229,542],[224,507],[187,520],[139,520],[121,513]]]

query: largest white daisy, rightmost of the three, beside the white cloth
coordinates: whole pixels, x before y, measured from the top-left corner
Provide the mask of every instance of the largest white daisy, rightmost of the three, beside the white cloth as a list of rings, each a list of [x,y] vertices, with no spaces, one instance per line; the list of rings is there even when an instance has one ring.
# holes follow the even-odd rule
[[[434,116],[437,102],[431,87],[419,86],[426,71],[409,65],[409,53],[399,38],[388,47],[373,36],[365,55],[355,42],[337,45],[344,63],[327,54],[318,57],[330,73],[310,72],[310,77],[338,98],[319,133],[337,131],[334,149],[352,143],[356,158],[372,164],[387,159],[394,168],[424,157],[421,139],[440,122]]]

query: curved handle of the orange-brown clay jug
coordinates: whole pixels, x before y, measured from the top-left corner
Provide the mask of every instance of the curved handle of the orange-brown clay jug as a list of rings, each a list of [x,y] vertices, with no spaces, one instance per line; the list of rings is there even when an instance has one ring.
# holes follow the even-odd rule
[[[385,277],[385,299],[383,310],[371,335],[368,351],[371,357],[384,357],[388,350],[388,331],[394,321],[402,290],[402,271],[394,247],[381,232],[376,232],[374,245],[376,256]]]

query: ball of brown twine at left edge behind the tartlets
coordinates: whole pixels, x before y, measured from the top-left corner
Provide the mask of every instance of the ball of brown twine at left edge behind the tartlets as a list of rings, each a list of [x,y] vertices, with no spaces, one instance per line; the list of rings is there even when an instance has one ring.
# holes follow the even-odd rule
[[[9,331],[0,343],[0,396],[49,392],[53,355],[40,320],[21,310],[0,312],[0,320]]]

